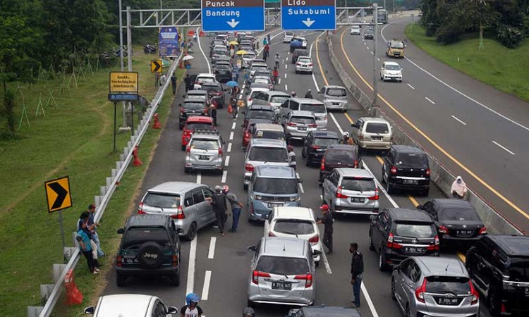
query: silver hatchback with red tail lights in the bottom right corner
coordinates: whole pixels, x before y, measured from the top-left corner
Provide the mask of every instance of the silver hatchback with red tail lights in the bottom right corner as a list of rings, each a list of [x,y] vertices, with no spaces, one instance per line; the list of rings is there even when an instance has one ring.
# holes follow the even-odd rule
[[[394,267],[391,298],[404,316],[478,316],[480,297],[456,258],[413,256]]]

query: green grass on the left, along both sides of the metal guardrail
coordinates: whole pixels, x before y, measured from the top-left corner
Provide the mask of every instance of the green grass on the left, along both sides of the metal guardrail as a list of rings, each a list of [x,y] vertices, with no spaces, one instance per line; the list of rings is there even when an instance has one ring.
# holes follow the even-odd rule
[[[141,51],[141,47],[135,47],[135,51]],[[140,94],[147,99],[152,99],[156,92],[150,74],[151,58],[143,54],[133,58],[133,68],[140,73]],[[63,95],[58,94],[62,78],[22,87],[31,126],[23,124],[14,141],[0,140],[0,175],[4,178],[0,185],[0,316],[26,316],[26,306],[39,306],[39,285],[52,283],[51,265],[62,263],[58,215],[47,213],[43,182],[64,175],[70,177],[73,208],[64,210],[63,218],[66,245],[71,246],[71,232],[80,212],[93,202],[93,196],[99,193],[99,186],[104,185],[119,158],[118,153],[112,152],[114,106],[107,101],[109,70],[117,68],[87,75],[78,81],[78,87]],[[178,70],[177,77],[182,75]],[[49,89],[54,90],[58,108],[46,106]],[[45,118],[42,114],[35,116],[41,93]],[[169,113],[171,97],[166,94],[159,108],[162,122]],[[18,120],[20,111],[19,107]],[[121,122],[118,112],[118,125]],[[144,165],[127,170],[104,214],[99,235],[109,254],[116,244],[114,228],[123,223],[130,211],[129,202],[145,174],[159,133],[160,130],[147,132],[140,146]],[[118,151],[121,152],[129,137],[129,133],[118,135]],[[85,259],[81,259],[75,278],[88,302],[103,279],[87,276],[85,271]],[[98,280],[99,284],[95,286],[87,280]]]

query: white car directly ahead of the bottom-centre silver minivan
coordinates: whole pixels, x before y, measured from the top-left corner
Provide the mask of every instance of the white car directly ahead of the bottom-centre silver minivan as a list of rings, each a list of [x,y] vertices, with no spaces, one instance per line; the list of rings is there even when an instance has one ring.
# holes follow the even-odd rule
[[[265,221],[265,237],[297,237],[307,240],[312,250],[323,252],[314,211],[305,207],[275,207]],[[314,258],[316,266],[320,255]]]

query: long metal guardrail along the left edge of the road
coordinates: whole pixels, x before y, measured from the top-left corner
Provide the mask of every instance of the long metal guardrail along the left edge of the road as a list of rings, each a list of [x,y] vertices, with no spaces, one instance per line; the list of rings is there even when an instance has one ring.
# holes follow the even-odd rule
[[[176,58],[176,61],[174,61],[171,68],[169,68],[169,71],[167,72],[168,78],[170,78],[171,75],[174,73],[174,70],[178,66],[178,62],[181,60],[181,58],[182,54],[178,56],[178,58]],[[94,197],[95,204],[97,206],[94,217],[96,222],[102,218],[103,213],[107,208],[107,205],[109,204],[109,201],[112,197],[112,194],[114,194],[114,190],[117,186],[116,184],[119,182],[119,180],[121,180],[121,178],[125,174],[125,171],[133,158],[134,147],[140,144],[143,136],[145,135],[145,132],[147,132],[147,129],[150,125],[150,120],[152,119],[152,116],[154,116],[154,113],[157,111],[159,103],[164,98],[165,91],[167,87],[169,87],[170,83],[171,80],[166,80],[165,84],[162,87],[159,87],[158,91],[154,95],[154,99],[152,99],[150,107],[147,108],[147,110],[143,114],[143,118],[138,124],[138,129],[134,130],[133,135],[130,137],[130,141],[127,142],[127,147],[123,149],[123,154],[120,155],[120,161],[116,161],[116,168],[111,170],[111,177],[107,178],[107,185],[100,187],[100,196]],[[61,296],[61,292],[63,291],[63,282],[66,273],[68,273],[69,270],[75,268],[80,259],[80,250],[77,247],[75,239],[74,245],[75,249],[71,247],[67,247],[64,249],[64,254],[70,257],[68,263],[54,264],[55,284],[41,285],[40,287],[41,299],[45,301],[46,304],[44,304],[44,306],[28,306],[28,317],[48,317],[51,315],[51,312],[53,311],[55,304],[57,303],[57,300],[59,299],[59,297]]]

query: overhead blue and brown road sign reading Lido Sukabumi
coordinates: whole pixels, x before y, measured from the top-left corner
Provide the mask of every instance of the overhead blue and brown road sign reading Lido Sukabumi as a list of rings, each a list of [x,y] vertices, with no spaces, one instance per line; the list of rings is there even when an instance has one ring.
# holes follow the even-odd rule
[[[281,0],[281,28],[336,30],[336,0]]]

